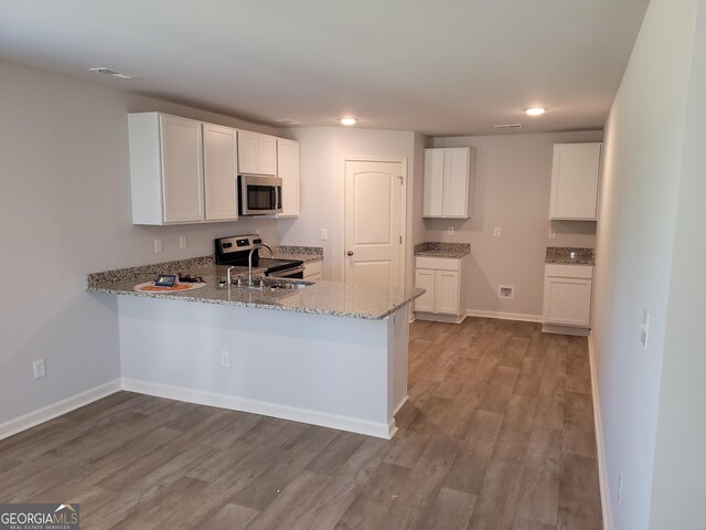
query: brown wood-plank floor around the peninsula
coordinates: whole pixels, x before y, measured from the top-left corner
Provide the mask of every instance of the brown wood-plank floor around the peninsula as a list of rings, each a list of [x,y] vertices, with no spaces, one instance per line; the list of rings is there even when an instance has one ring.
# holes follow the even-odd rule
[[[119,392],[0,441],[0,502],[84,529],[600,529],[585,338],[410,329],[392,441]]]

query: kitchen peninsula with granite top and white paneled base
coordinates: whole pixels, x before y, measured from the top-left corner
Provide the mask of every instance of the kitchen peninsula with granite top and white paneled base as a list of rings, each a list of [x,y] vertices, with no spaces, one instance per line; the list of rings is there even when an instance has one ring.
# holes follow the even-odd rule
[[[133,289],[175,272],[206,286]],[[87,290],[120,295],[124,390],[394,435],[394,415],[407,399],[408,307],[421,289],[339,282],[218,287],[223,276],[213,256],[87,276]]]

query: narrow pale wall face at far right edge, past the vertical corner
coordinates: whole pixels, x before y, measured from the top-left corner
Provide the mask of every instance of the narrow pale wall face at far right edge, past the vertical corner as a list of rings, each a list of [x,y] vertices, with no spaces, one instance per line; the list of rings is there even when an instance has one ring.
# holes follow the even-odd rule
[[[706,528],[705,0],[698,0],[689,75],[650,510],[654,530]]]

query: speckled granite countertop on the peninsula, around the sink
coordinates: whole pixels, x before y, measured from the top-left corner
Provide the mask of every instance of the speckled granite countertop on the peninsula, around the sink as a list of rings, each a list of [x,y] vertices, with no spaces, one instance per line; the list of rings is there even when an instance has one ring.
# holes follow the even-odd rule
[[[216,265],[213,256],[181,259],[142,267],[130,267],[86,275],[86,290],[114,295],[169,298],[201,304],[256,307],[281,311],[381,320],[424,294],[424,289],[404,289],[375,285],[350,285],[340,282],[317,282],[303,289],[256,290],[247,287],[218,287],[225,266]],[[245,269],[245,271],[242,271]],[[206,286],[181,293],[138,293],[135,285],[149,282],[159,273],[184,273],[202,276]],[[263,269],[253,269],[261,274]],[[247,267],[235,273],[247,274]],[[288,280],[280,280],[288,282]],[[297,280],[301,282],[301,280]],[[308,283],[308,282],[303,282]]]

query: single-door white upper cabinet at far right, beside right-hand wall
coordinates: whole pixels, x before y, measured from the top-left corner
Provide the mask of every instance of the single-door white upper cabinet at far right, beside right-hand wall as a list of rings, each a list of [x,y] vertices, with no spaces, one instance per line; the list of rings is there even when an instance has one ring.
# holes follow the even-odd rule
[[[602,144],[555,144],[549,219],[595,221]]]

